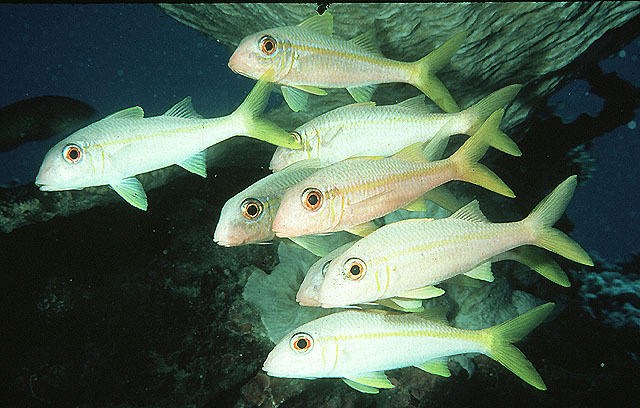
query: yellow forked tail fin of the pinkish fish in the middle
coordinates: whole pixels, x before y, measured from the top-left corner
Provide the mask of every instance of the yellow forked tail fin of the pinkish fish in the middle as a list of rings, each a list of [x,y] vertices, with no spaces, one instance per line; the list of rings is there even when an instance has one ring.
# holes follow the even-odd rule
[[[507,197],[515,197],[513,191],[494,172],[478,160],[484,156],[490,145],[495,140],[509,139],[507,135],[498,130],[504,110],[495,111],[489,119],[473,134],[460,148],[449,157],[455,167],[456,179],[473,183]],[[510,140],[510,139],[509,139]]]

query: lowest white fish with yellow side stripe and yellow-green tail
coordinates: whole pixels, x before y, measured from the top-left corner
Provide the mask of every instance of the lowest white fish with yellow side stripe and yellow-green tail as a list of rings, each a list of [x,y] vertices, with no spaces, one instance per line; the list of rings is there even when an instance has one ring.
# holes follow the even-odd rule
[[[450,377],[447,357],[481,353],[531,386],[546,390],[540,374],[512,343],[520,341],[552,312],[546,303],[482,330],[451,327],[441,308],[420,313],[345,310],[289,332],[262,369],[283,378],[342,378],[350,387],[377,394],[394,388],[385,370],[409,366]]]

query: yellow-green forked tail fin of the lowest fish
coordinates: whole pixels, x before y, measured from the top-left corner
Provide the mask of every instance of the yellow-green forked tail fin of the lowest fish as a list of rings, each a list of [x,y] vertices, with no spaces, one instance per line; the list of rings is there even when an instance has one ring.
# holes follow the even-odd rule
[[[527,384],[543,391],[547,386],[540,374],[527,357],[511,343],[521,340],[542,323],[553,310],[553,306],[553,303],[546,303],[514,319],[484,330],[487,334],[486,354],[522,378]]]

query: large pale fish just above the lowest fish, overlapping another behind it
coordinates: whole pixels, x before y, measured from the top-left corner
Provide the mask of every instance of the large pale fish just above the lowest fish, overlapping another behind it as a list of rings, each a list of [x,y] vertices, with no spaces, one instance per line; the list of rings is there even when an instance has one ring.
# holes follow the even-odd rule
[[[426,299],[440,296],[433,285],[456,275],[493,281],[491,262],[522,261],[550,280],[568,286],[557,265],[546,264],[534,245],[571,261],[593,266],[580,245],[553,225],[567,208],[577,176],[570,176],[520,221],[492,223],[473,200],[450,217],[409,219],[385,225],[358,240],[325,270],[318,302],[340,307],[396,296]],[[506,251],[518,248],[516,253]],[[528,253],[527,253],[528,252]],[[542,262],[541,262],[542,261]],[[564,284],[563,284],[564,283]]]

